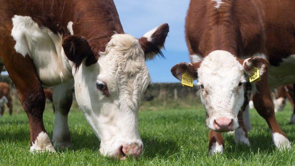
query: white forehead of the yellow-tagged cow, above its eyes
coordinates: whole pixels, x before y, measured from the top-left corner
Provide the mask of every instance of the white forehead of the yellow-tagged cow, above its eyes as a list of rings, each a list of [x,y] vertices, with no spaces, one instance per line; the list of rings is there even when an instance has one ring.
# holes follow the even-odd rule
[[[205,57],[198,69],[199,81],[212,87],[232,86],[244,80],[242,65],[229,52],[216,50]]]

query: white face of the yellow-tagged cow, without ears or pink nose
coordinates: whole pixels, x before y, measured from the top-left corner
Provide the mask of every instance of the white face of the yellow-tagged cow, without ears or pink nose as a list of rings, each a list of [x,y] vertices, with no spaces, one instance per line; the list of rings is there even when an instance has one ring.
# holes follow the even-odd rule
[[[238,112],[244,103],[245,83],[243,66],[229,52],[216,50],[203,58],[198,69],[198,85],[203,84],[201,101],[208,118],[206,125],[212,130],[215,118],[231,117],[234,121],[233,130],[238,128]]]

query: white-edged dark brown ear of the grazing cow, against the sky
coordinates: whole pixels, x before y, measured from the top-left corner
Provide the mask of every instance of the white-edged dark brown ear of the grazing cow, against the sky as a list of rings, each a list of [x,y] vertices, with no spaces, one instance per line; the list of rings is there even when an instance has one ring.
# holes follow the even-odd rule
[[[153,59],[157,54],[164,57],[161,49],[164,47],[168,32],[169,25],[162,24],[159,27],[148,31],[143,37],[138,39],[141,44],[141,48],[144,51],[146,60]]]

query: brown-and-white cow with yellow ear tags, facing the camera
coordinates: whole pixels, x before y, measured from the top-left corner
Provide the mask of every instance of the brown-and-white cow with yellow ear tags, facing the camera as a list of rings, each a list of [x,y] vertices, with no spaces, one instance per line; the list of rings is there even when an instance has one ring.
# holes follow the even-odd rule
[[[295,1],[191,0],[186,17],[191,63],[179,63],[171,72],[179,80],[184,72],[198,80],[210,154],[223,151],[221,132],[235,130],[235,142],[250,145],[242,120],[248,112],[242,109],[248,108],[242,106],[248,107],[244,96],[251,88],[245,84],[254,67],[260,72],[260,81],[252,83],[254,106],[274,145],[290,148],[277,123],[270,88],[295,83],[294,13]]]

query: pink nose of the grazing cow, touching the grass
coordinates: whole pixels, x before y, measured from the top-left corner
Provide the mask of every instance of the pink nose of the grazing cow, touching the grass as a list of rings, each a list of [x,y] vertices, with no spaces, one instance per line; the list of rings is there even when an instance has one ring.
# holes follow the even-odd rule
[[[125,160],[126,157],[130,156],[130,157],[134,157],[134,158],[138,158],[139,155],[141,154],[141,146],[136,144],[136,143],[133,143],[133,144],[125,144],[122,146],[122,149],[121,149],[121,153],[122,154],[122,158],[120,159],[123,159]]]

